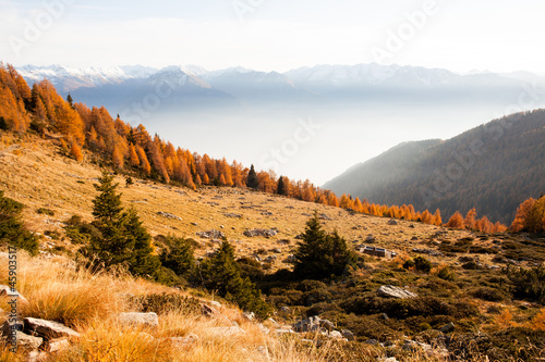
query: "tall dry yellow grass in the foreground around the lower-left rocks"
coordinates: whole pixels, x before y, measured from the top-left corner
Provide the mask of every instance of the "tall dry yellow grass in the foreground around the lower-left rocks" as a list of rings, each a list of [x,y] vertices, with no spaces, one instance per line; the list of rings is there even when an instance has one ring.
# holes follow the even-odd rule
[[[126,294],[183,292],[130,276],[76,271],[66,267],[64,258],[29,258],[23,251],[17,257],[17,287],[29,301],[22,316],[63,322],[82,334],[71,348],[50,355],[50,361],[322,361],[317,351],[267,334],[228,304],[215,317],[184,310],[165,312],[155,329],[123,325],[117,315],[131,311]],[[0,258],[0,283],[8,282],[7,270],[8,259]],[[235,321],[245,333],[228,335],[218,329]],[[178,346],[170,340],[190,334],[197,336],[191,344]],[[0,351],[0,361],[22,357]]]

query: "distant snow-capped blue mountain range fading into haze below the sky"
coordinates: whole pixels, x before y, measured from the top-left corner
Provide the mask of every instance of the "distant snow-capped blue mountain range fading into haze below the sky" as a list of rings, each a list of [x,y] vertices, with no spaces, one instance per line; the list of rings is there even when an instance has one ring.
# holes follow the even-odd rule
[[[62,65],[17,67],[28,83],[49,79],[63,95],[89,107],[123,113],[138,103],[154,111],[184,112],[206,107],[278,109],[346,102],[460,101],[505,102],[517,99],[523,84],[545,86],[531,73],[460,75],[447,70],[359,64],[316,65],[286,73],[242,67],[206,71],[199,66],[142,65],[73,68]],[[534,84],[534,85],[532,85]],[[123,114],[122,114],[123,116]],[[125,115],[126,116],[126,115]]]

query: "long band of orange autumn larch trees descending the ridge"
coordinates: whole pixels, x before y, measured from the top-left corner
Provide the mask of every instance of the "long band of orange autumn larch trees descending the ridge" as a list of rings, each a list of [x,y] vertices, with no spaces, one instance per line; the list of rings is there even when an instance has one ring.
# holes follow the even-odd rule
[[[71,99],[65,101],[48,80],[29,88],[11,65],[3,64],[0,64],[0,129],[55,135],[53,138],[59,138],[65,152],[77,161],[83,160],[83,150],[86,149],[94,154],[90,159],[95,162],[108,162],[121,172],[164,183],[173,182],[192,189],[205,185],[249,187],[307,202],[340,207],[351,212],[443,226],[438,209],[434,213],[428,210],[416,212],[412,204],[380,205],[365,199],[353,199],[350,195],[339,198],[308,179],[278,177],[272,171],[256,172],[253,165],[249,168],[237,161],[228,163],[225,158],[215,160],[208,154],[199,155],[175,148],[158,135],[149,135],[143,125],[133,127],[119,116],[113,118],[104,107],[89,109],[83,103],[73,103]],[[511,225],[512,230],[544,229],[545,198],[531,200],[519,208]],[[446,226],[486,233],[507,229],[499,223],[493,224],[486,216],[477,219],[475,209],[470,210],[465,217],[459,212],[455,213]]]

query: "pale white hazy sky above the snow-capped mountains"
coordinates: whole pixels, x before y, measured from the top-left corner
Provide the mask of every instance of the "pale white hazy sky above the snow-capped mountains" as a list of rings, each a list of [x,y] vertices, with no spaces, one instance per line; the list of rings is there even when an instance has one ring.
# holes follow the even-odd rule
[[[545,73],[543,14],[542,0],[0,0],[0,59],[263,71],[377,61]]]

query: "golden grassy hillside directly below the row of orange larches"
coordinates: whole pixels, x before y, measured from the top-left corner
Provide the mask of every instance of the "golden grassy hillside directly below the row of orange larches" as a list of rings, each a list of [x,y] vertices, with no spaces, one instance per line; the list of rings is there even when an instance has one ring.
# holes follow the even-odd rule
[[[62,157],[50,140],[25,137],[15,140],[5,134],[0,141],[0,189],[5,196],[23,202],[24,219],[34,232],[56,230],[62,233],[62,223],[73,214],[92,220],[92,200],[96,196],[93,184],[100,170],[90,163],[77,163]],[[239,255],[249,255],[261,248],[281,249],[274,269],[288,265],[280,262],[293,249],[294,237],[304,230],[308,215],[317,210],[329,216],[324,221],[328,230],[337,229],[341,236],[354,245],[364,244],[373,234],[378,246],[405,252],[415,247],[412,238],[427,240],[439,228],[420,223],[400,221],[398,226],[388,225],[388,219],[363,214],[350,215],[332,207],[286,199],[272,195],[251,192],[235,188],[204,188],[193,191],[183,187],[161,185],[153,182],[135,180],[125,188],[124,178],[117,177],[119,190],[123,192],[125,207],[133,205],[152,235],[174,234],[202,241],[197,254],[213,251],[217,245],[198,238],[195,233],[216,228],[222,230],[229,240],[235,241]],[[253,209],[247,209],[253,207]],[[55,212],[53,216],[38,214],[39,208]],[[182,219],[170,220],[158,215],[168,212]],[[272,215],[263,215],[270,212]],[[242,219],[226,214],[242,215]],[[194,224],[197,224],[196,226]],[[414,225],[414,228],[410,228]],[[223,226],[223,227],[221,227]],[[243,232],[251,228],[272,228],[279,230],[272,238],[247,238]],[[451,232],[450,238],[468,236],[467,232]],[[291,240],[291,246],[276,241]],[[71,248],[68,240],[57,245]]]

